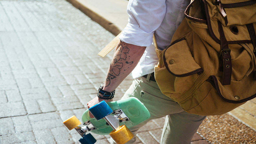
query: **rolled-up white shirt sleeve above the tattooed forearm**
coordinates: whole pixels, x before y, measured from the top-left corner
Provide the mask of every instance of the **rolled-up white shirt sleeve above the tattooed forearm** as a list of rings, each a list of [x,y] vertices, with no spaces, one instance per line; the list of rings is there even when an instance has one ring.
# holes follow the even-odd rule
[[[129,0],[127,13],[128,24],[119,39],[136,46],[150,46],[154,31],[161,25],[166,13],[165,0]]]

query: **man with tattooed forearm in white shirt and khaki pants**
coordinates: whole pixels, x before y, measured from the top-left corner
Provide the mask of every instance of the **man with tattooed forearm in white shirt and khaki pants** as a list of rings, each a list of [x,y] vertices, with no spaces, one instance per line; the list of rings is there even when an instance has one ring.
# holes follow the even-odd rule
[[[154,66],[158,58],[152,45],[155,33],[158,48],[165,49],[184,18],[188,0],[129,0],[127,13],[129,20],[116,46],[102,90],[111,95],[127,75],[132,72],[133,84],[122,98],[137,97],[149,110],[151,117],[130,128],[137,130],[149,120],[166,117],[161,143],[190,143],[205,116],[186,113],[176,102],[163,95],[154,80]],[[102,93],[103,94],[103,93]],[[88,108],[105,100],[103,95],[88,102]],[[90,115],[92,117],[92,115]],[[127,143],[134,143],[136,137]]]

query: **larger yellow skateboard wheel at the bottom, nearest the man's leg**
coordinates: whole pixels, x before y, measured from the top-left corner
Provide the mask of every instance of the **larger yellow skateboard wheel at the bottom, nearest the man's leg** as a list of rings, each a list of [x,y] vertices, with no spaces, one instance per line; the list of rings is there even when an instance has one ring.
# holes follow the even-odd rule
[[[124,144],[133,138],[132,132],[125,125],[120,126],[118,130],[111,131],[109,135],[117,144]]]

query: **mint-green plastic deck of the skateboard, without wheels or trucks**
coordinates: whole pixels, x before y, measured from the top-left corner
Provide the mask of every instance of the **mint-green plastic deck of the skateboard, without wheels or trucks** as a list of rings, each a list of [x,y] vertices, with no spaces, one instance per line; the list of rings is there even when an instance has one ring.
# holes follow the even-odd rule
[[[122,120],[120,119],[120,121],[122,121],[120,122],[120,125],[126,125],[127,128],[140,124],[144,120],[150,118],[150,113],[147,108],[135,97],[108,102],[107,104],[113,111],[118,109],[122,110],[127,118]],[[113,130],[109,125],[106,125],[106,121],[104,119],[96,120],[95,118],[90,118],[88,109],[82,115],[82,122],[84,124],[90,122],[95,128],[91,130],[91,132],[95,134],[108,135]]]

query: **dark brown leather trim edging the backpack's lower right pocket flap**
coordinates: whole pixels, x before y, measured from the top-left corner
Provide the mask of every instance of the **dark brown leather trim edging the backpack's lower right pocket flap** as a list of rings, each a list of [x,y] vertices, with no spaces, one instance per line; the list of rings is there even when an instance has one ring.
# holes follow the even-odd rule
[[[244,99],[241,99],[239,101],[230,100],[230,99],[227,99],[227,98],[223,97],[223,95],[220,93],[220,88],[219,88],[219,84],[218,84],[216,76],[211,75],[206,81],[210,82],[212,84],[212,86],[217,90],[217,93],[219,94],[219,96],[224,101],[229,102],[229,103],[239,104],[239,103],[243,103],[243,102],[249,101],[249,100],[251,100],[251,99],[256,97],[256,93],[255,93],[254,95],[252,95],[250,97],[247,97],[247,98],[244,98]]]

